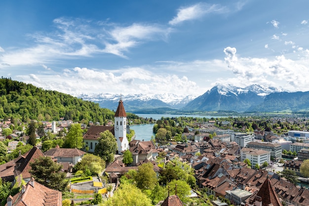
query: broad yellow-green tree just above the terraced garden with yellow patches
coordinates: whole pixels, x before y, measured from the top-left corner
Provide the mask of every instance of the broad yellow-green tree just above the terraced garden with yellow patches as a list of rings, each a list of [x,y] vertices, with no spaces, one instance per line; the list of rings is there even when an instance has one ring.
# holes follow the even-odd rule
[[[85,154],[74,169],[76,171],[83,171],[83,173],[86,173],[86,170],[90,170],[92,175],[100,174],[105,169],[105,161],[94,154]]]

